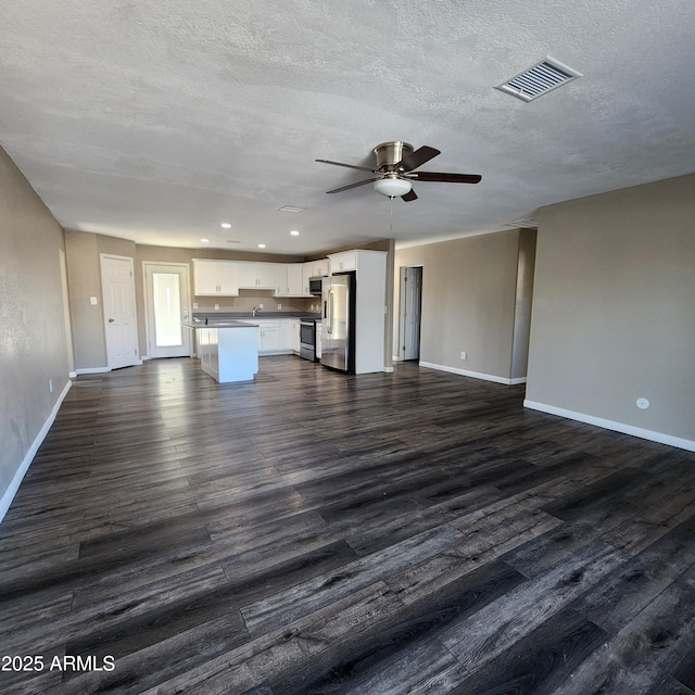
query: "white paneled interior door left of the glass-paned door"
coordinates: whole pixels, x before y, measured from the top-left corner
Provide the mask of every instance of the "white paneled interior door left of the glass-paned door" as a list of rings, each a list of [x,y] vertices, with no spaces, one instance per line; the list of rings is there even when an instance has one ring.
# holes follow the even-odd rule
[[[132,258],[100,254],[106,359],[110,369],[140,364]]]

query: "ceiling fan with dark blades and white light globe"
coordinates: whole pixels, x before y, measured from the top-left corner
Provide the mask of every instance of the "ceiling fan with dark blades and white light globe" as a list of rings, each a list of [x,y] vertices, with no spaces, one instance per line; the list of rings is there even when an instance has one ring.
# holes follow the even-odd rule
[[[336,166],[346,166],[350,169],[369,172],[376,174],[356,184],[334,188],[327,193],[340,193],[357,186],[372,184],[377,192],[388,198],[400,195],[404,201],[417,200],[413,190],[413,181],[439,181],[445,184],[478,184],[482,178],[478,174],[446,174],[441,172],[414,172],[418,166],[440,154],[439,150],[427,144],[413,149],[412,144],[396,140],[394,142],[382,142],[374,149],[377,157],[377,167],[370,169],[367,166],[356,166],[355,164],[343,164],[342,162],[331,162],[330,160],[316,160],[323,164],[334,164]]]

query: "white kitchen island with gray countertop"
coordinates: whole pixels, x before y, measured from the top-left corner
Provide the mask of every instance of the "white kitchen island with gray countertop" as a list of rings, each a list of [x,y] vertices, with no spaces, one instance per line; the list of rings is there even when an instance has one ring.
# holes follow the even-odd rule
[[[258,371],[258,327],[244,321],[185,321],[195,332],[200,368],[219,383],[253,381]]]

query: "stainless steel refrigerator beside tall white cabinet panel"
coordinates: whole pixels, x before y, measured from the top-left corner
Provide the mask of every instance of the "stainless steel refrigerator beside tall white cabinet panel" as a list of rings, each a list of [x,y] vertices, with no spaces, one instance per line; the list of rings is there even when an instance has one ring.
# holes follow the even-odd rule
[[[355,274],[324,278],[321,364],[355,374]]]

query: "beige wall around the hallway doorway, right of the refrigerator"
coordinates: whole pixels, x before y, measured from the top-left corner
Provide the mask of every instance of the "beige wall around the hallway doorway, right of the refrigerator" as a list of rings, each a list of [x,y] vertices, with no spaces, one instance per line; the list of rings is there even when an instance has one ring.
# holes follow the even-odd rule
[[[522,238],[521,230],[513,229],[396,251],[396,305],[400,268],[422,266],[420,362],[513,378]],[[528,281],[520,287],[530,291]],[[393,328],[397,344],[397,321]],[[519,332],[517,345],[520,340]],[[460,359],[462,351],[467,353],[465,361]]]

